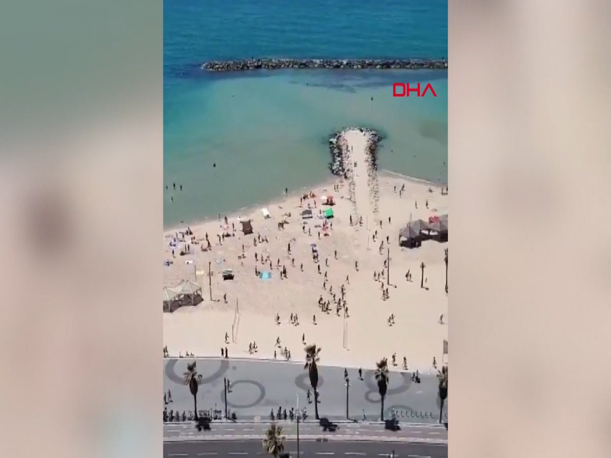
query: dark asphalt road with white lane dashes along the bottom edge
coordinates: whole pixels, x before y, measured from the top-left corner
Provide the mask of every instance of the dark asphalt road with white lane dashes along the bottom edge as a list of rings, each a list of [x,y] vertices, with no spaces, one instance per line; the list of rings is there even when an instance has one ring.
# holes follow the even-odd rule
[[[285,453],[297,456],[296,441],[285,443]],[[316,442],[299,441],[299,457],[386,457],[447,458],[447,445],[422,443],[374,443],[374,442]],[[163,456],[167,458],[197,458],[205,456],[271,456],[263,451],[261,440],[236,442],[177,442],[164,443]]]

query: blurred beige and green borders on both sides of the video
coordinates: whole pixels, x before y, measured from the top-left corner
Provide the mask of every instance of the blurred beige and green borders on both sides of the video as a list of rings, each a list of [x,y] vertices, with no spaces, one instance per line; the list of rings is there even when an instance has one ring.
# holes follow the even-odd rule
[[[610,5],[449,3],[452,457],[609,454]],[[0,21],[2,449],[161,456],[162,4]]]

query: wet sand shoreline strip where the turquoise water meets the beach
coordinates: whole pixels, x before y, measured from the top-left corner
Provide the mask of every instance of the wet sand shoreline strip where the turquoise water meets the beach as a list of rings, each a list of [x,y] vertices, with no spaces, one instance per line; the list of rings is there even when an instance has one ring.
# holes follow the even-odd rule
[[[377,172],[378,172],[379,178],[396,178],[396,179],[408,181],[409,183],[428,184],[429,186],[433,187],[433,189],[434,188],[441,189],[442,187],[448,186],[447,183],[442,183],[442,186],[440,186],[439,183],[433,183],[433,181],[425,180],[423,178],[415,178],[414,176],[403,175],[403,173],[392,172],[392,170],[387,170],[387,169],[378,169]],[[313,184],[310,184],[309,186],[303,186],[298,190],[289,192],[288,195],[282,194],[280,196],[274,197],[273,199],[269,200],[268,202],[265,202],[265,201],[258,202],[253,205],[247,205],[239,209],[229,211],[228,213],[221,213],[221,217],[227,216],[228,218],[235,218],[236,216],[240,216],[240,213],[244,213],[244,214],[254,213],[254,211],[256,211],[257,209],[260,209],[259,207],[263,208],[265,206],[278,205],[279,203],[284,202],[285,200],[289,198],[298,197],[299,194],[302,194],[302,192],[310,191],[310,189],[315,189],[315,188],[318,189],[320,187],[332,186],[337,181],[341,182],[343,181],[343,178],[340,176],[335,176],[331,173],[328,180],[321,181],[319,183],[313,183]],[[218,220],[218,217],[217,217],[217,220]],[[202,219],[194,220],[193,222],[184,222],[184,223],[178,222],[178,223],[172,224],[169,227],[164,227],[163,233],[167,234],[167,233],[176,232],[178,230],[184,229],[185,225],[199,226],[202,224],[208,224],[213,221],[214,221],[214,216],[206,216],[206,217],[203,217]]]

